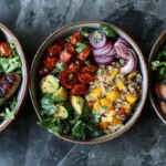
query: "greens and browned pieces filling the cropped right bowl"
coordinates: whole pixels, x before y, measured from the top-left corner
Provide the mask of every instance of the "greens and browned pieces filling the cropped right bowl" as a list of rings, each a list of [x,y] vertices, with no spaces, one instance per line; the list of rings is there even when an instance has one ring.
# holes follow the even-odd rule
[[[155,93],[158,97],[159,107],[166,115],[166,45],[158,50],[156,60],[152,62],[152,70],[158,76],[155,81]]]

